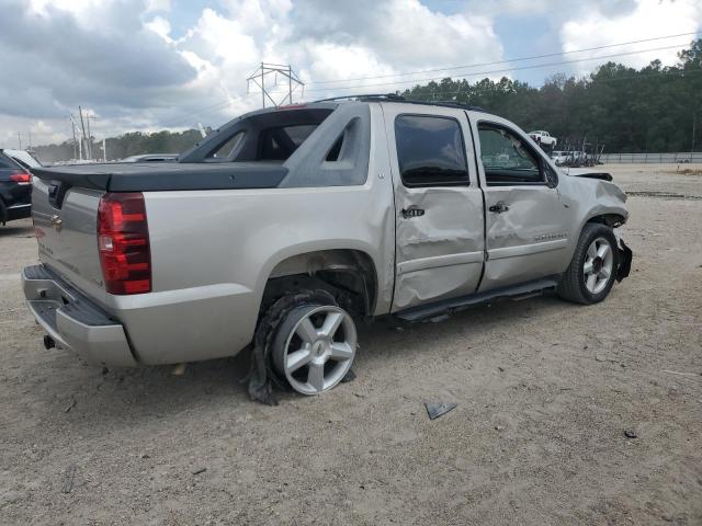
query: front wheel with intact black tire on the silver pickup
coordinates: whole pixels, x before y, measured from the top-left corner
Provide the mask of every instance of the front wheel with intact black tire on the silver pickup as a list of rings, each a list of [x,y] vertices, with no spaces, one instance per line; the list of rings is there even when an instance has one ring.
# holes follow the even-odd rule
[[[619,250],[614,231],[605,225],[588,222],[580,232],[573,260],[563,274],[557,294],[576,304],[592,305],[602,301],[614,285],[618,268]]]

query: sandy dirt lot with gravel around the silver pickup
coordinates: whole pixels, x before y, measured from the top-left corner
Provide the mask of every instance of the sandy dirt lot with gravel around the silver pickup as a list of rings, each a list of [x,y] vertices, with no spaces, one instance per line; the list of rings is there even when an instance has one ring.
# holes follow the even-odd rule
[[[354,381],[275,408],[246,355],[176,377],[45,351],[31,224],[0,227],[0,524],[702,524],[702,176],[675,169],[604,167],[637,195],[603,304],[376,323]]]

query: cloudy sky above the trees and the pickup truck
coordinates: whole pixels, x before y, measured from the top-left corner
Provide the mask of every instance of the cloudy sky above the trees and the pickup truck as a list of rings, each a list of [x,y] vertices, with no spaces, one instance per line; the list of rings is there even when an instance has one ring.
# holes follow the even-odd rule
[[[0,0],[0,12],[7,148],[18,133],[23,146],[29,133],[35,145],[66,139],[78,105],[99,139],[216,127],[260,106],[246,79],[261,60],[293,65],[306,83],[296,100],[445,76],[539,85],[608,59],[675,64],[702,30],[701,0]]]

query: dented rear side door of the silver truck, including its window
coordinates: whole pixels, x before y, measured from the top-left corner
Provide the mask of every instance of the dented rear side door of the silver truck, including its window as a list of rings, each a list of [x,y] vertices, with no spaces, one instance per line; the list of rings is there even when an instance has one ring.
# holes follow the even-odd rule
[[[485,218],[465,113],[397,103],[383,113],[395,191],[392,310],[474,293]]]

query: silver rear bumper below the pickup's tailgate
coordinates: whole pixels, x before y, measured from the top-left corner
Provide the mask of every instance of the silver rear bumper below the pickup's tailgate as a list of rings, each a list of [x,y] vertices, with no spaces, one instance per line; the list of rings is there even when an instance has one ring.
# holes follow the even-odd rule
[[[22,288],[32,315],[57,346],[95,365],[138,365],[123,325],[46,266],[25,267]]]

